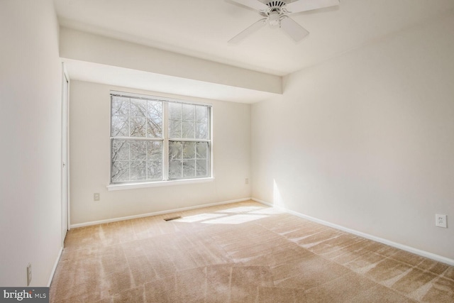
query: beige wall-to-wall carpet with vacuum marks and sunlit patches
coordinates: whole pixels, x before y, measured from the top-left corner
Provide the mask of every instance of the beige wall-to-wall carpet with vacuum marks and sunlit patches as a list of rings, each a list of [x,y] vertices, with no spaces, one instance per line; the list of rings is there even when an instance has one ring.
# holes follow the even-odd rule
[[[50,302],[454,302],[454,268],[251,201],[72,229]]]

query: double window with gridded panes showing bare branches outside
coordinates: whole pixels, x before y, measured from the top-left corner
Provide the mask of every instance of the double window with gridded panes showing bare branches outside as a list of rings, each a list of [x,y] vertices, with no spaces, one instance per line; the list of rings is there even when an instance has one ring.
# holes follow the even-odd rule
[[[111,184],[211,177],[211,106],[111,92]]]

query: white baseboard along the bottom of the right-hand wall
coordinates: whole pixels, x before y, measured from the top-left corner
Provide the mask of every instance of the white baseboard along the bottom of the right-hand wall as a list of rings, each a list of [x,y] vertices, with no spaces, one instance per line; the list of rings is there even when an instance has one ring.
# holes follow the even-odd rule
[[[384,239],[384,238],[380,238],[380,237],[377,237],[377,236],[372,236],[372,235],[370,235],[368,233],[362,233],[361,231],[356,231],[355,229],[350,229],[350,228],[347,228],[347,227],[344,227],[344,226],[341,226],[341,225],[332,224],[332,223],[330,223],[328,221],[323,221],[321,219],[316,219],[316,218],[314,218],[312,216],[306,216],[305,214],[301,214],[301,213],[299,213],[297,211],[292,211],[292,210],[286,209],[284,207],[275,206],[272,203],[265,202],[265,201],[262,201],[260,199],[251,198],[251,200],[253,200],[255,202],[259,202],[261,204],[265,204],[265,205],[270,206],[270,207],[273,207],[273,208],[278,209],[280,211],[287,212],[287,213],[292,214],[294,216],[299,216],[300,218],[307,219],[309,221],[313,221],[313,222],[316,222],[316,223],[319,223],[319,224],[322,224],[322,225],[325,225],[325,226],[336,228],[336,229],[339,229],[341,231],[346,231],[348,233],[353,233],[354,235],[360,236],[362,238],[367,238],[367,239],[370,239],[372,241],[376,241],[376,242],[380,242],[380,243],[386,244],[388,246],[392,246],[394,248],[399,248],[399,249],[408,251],[409,253],[414,253],[415,255],[421,255],[422,257],[429,258],[429,259],[436,260],[436,261],[441,262],[441,263],[445,263],[445,264],[454,266],[454,260],[453,259],[446,258],[446,257],[443,257],[441,255],[436,255],[435,253],[429,253],[428,251],[425,251],[425,250],[420,250],[418,248],[413,248],[411,246],[406,246],[406,245],[403,245],[401,243],[389,241],[389,240]]]

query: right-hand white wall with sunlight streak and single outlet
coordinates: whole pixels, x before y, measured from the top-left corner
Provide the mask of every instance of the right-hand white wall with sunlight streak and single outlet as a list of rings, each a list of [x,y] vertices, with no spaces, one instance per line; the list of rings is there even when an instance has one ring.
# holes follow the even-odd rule
[[[252,108],[253,197],[454,259],[453,37],[451,13],[286,77]]]

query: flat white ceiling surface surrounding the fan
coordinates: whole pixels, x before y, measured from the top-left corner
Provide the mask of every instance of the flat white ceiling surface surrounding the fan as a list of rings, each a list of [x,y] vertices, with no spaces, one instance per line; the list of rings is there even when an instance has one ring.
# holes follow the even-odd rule
[[[300,43],[265,27],[230,45],[260,19],[231,0],[54,1],[61,26],[273,75],[316,65],[454,9],[454,0],[341,0],[336,8],[292,14],[310,32]]]

